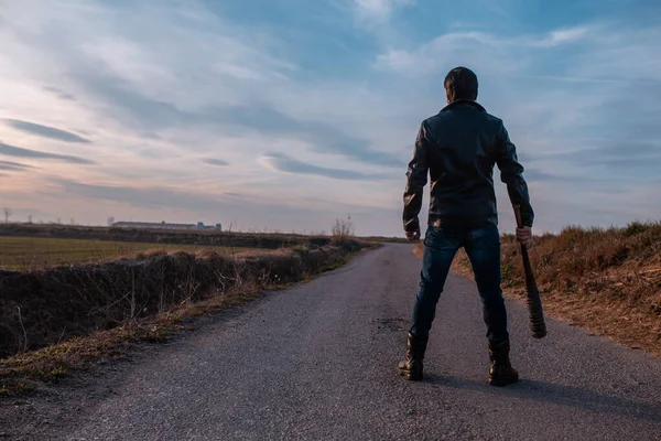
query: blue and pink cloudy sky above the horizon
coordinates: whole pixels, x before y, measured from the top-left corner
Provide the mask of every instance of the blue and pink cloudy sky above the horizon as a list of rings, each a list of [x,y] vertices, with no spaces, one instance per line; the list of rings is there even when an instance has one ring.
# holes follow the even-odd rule
[[[0,206],[402,236],[418,128],[466,66],[538,233],[658,220],[659,42],[661,2],[640,0],[7,0]]]

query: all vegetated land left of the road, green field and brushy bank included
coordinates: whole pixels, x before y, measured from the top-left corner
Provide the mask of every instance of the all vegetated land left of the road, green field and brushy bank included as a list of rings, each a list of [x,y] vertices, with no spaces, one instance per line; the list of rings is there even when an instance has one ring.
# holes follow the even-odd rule
[[[329,237],[0,227],[0,258],[12,269],[0,270],[0,395],[167,340],[195,316],[338,268],[372,246],[346,220],[338,225]]]

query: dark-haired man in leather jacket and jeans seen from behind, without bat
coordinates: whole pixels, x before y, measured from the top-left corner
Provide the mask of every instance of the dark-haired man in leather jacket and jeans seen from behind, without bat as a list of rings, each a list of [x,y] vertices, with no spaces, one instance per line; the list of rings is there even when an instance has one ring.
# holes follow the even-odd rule
[[[409,240],[420,238],[418,215],[423,189],[431,176],[429,227],[424,238],[420,291],[415,298],[407,356],[398,366],[407,379],[421,380],[424,353],[436,303],[456,251],[464,247],[481,298],[491,366],[488,383],[506,386],[519,374],[509,359],[507,312],[500,289],[500,234],[494,191],[494,165],[507,184],[510,201],[521,206],[523,228],[517,239],[532,239],[533,211],[521,175],[514,144],[502,121],[477,99],[477,76],[456,67],[445,77],[447,106],[424,120],[409,163],[404,192],[404,230]]]

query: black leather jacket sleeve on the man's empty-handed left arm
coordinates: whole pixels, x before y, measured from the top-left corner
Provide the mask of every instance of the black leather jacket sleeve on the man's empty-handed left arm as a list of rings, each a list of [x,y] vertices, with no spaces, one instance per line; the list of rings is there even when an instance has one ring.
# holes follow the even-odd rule
[[[422,208],[422,195],[427,182],[427,138],[424,122],[420,126],[413,159],[409,162],[407,172],[407,189],[404,190],[404,230],[414,232],[420,228],[418,215]]]

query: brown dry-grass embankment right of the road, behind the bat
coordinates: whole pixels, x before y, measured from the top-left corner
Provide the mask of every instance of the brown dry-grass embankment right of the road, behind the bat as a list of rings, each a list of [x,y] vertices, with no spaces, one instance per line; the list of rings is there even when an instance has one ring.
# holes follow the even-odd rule
[[[565,228],[535,237],[530,256],[546,313],[661,356],[661,223]],[[472,277],[463,251],[454,268]],[[502,238],[501,268],[506,294],[523,298],[513,236]]]

